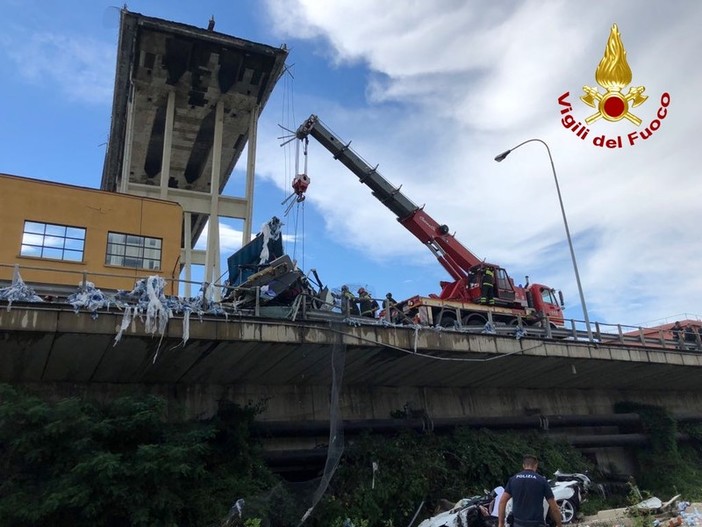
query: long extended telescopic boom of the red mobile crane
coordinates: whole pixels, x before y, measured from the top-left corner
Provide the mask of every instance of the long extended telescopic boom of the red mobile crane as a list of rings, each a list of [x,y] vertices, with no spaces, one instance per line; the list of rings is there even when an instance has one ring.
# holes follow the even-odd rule
[[[441,265],[456,280],[465,280],[469,269],[482,261],[449,234],[446,225],[440,225],[423,209],[414,204],[401,191],[378,172],[378,166],[370,166],[351,148],[333,134],[317,117],[311,115],[295,134],[304,140],[314,137],[346,168],[353,172],[359,181],[367,185],[383,205],[392,211],[408,231],[417,237],[436,256]]]

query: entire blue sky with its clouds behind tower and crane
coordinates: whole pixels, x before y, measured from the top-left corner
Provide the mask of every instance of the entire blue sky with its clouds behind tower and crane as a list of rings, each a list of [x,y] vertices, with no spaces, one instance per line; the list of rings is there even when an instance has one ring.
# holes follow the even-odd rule
[[[99,187],[110,126],[119,4],[0,0],[0,172]],[[472,252],[519,283],[562,289],[566,316],[582,318],[545,149],[573,235],[591,320],[640,324],[702,314],[699,122],[702,3],[499,0],[134,1],[131,11],[290,49],[292,76],[260,122],[254,225],[282,216],[293,151],[278,125],[311,113]],[[617,23],[648,100],[643,121],[603,119],[581,140],[572,115]],[[670,105],[647,140],[626,136]],[[622,148],[592,139],[623,137]],[[244,159],[228,192],[239,193]],[[314,141],[304,213],[284,218],[288,252],[333,287],[367,286],[395,298],[438,292],[448,275],[355,176]],[[304,232],[302,218],[304,217]],[[222,253],[240,239],[225,226]],[[303,252],[304,247],[304,252]],[[686,315],[687,314],[687,315]]]

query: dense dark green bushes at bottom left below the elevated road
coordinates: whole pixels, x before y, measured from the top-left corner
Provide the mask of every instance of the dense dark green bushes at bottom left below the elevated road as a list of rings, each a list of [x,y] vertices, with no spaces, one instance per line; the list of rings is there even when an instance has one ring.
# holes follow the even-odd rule
[[[255,410],[163,421],[163,399],[49,404],[0,387],[0,525],[211,525],[273,477],[251,446]]]

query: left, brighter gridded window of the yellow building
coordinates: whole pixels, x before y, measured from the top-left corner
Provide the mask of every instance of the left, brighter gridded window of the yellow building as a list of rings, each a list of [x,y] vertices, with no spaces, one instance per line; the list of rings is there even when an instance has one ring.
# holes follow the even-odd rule
[[[25,221],[21,256],[82,262],[85,229],[55,223]]]

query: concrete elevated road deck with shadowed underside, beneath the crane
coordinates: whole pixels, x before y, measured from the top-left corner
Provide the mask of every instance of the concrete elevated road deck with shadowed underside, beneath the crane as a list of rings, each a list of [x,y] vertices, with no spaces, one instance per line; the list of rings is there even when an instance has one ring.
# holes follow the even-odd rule
[[[122,318],[58,304],[0,307],[0,382],[98,399],[158,393],[186,417],[212,415],[221,399],[265,401],[261,420],[319,421],[329,419],[337,350],[345,419],[403,408],[438,419],[604,415],[623,400],[702,414],[702,354],[692,352],[231,316],[193,316],[185,343],[182,317],[163,337],[137,318],[115,342]]]

